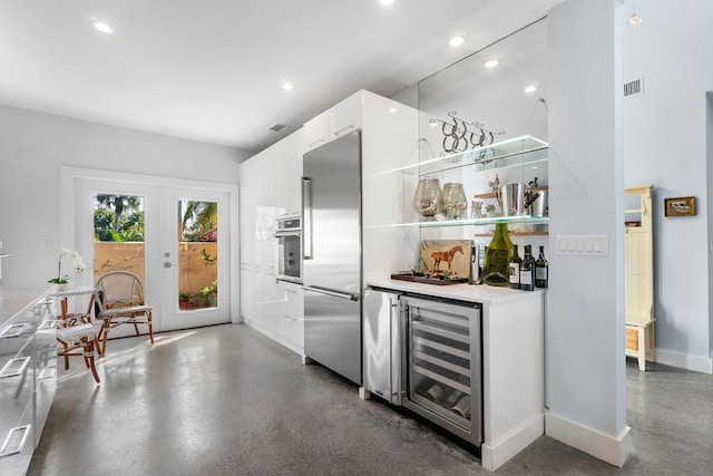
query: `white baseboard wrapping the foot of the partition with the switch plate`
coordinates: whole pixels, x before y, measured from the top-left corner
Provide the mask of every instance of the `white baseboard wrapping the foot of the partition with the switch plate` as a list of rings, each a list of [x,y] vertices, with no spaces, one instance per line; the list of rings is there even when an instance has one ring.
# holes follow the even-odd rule
[[[629,430],[631,428],[626,427],[613,437],[550,412],[545,414],[547,436],[618,467],[624,466],[626,458],[632,454]]]

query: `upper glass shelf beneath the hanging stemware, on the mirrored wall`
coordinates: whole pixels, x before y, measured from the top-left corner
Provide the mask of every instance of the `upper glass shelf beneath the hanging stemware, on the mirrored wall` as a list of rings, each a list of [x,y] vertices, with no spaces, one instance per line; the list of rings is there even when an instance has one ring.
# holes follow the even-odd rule
[[[491,168],[522,166],[547,161],[548,146],[546,142],[536,137],[520,136],[485,147],[411,164],[397,168],[394,172],[423,176],[463,167],[475,167],[478,172],[482,172]]]

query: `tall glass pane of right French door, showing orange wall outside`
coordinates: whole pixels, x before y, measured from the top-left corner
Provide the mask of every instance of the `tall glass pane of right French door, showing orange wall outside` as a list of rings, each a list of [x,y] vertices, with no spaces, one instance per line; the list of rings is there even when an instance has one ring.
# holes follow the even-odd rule
[[[218,204],[179,200],[177,205],[179,309],[215,308]]]

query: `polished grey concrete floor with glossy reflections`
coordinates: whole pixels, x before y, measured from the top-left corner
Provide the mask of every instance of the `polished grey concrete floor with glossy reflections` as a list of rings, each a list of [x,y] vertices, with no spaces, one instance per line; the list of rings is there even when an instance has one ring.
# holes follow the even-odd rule
[[[247,326],[109,342],[71,361],[29,475],[488,475],[477,457]],[[634,454],[616,468],[551,438],[498,475],[713,474],[713,379],[627,362]]]

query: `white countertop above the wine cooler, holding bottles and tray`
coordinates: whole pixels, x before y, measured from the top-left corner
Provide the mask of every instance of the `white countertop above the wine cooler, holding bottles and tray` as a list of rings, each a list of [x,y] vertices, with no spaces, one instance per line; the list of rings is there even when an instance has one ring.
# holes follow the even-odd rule
[[[544,293],[544,290],[519,291],[510,288],[497,288],[487,284],[424,284],[401,280],[370,280],[369,286],[383,288],[393,291],[410,292],[434,298],[455,299],[458,301],[480,302],[482,304],[496,304],[498,302],[511,302],[518,299],[530,298]]]

